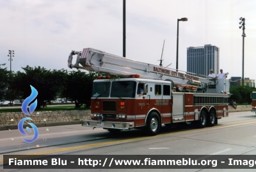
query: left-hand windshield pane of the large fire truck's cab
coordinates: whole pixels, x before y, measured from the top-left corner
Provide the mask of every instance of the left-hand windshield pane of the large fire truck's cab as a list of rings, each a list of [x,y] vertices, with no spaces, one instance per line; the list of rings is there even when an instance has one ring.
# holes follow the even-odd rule
[[[92,97],[109,97],[110,82],[93,82]]]

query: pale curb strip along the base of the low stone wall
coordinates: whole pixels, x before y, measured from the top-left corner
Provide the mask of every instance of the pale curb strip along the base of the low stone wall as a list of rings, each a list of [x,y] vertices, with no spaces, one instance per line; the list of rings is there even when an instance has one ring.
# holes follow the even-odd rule
[[[72,121],[63,121],[63,122],[47,122],[47,123],[38,123],[35,124],[36,127],[48,127],[48,126],[56,126],[56,125],[72,125],[72,124],[82,124],[81,120],[72,120]],[[23,127],[29,127],[30,125],[24,124]],[[8,129],[18,129],[18,125],[4,125],[0,126],[0,131],[8,130]]]

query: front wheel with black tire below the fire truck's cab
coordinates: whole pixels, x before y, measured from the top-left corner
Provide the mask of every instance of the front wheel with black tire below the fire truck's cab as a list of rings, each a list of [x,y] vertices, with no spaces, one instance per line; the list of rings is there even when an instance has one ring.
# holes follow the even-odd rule
[[[155,136],[159,133],[161,129],[161,122],[159,115],[157,115],[156,112],[152,112],[148,115],[146,129],[149,136]]]

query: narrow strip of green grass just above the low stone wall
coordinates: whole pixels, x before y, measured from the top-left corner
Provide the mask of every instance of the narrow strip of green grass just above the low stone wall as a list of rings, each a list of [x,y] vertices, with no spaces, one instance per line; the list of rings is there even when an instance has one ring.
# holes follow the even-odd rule
[[[67,105],[67,106],[50,106],[48,105],[47,108],[41,108],[36,109],[35,111],[58,111],[58,110],[90,110],[91,108],[84,108],[84,106],[81,106],[81,108],[75,108],[75,105]],[[0,109],[0,113],[3,112],[20,112],[21,107],[17,108],[4,108]]]

